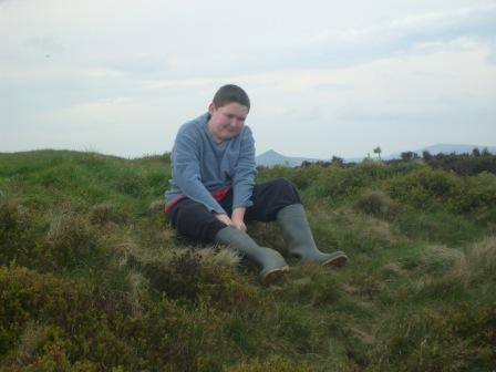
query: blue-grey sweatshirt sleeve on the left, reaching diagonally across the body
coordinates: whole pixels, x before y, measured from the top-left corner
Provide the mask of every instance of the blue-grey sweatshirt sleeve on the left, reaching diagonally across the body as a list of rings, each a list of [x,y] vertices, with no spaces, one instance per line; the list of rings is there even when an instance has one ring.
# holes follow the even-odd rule
[[[209,211],[226,213],[202,183],[202,143],[195,128],[183,126],[177,133],[173,152],[174,179],[184,195],[202,203]]]

